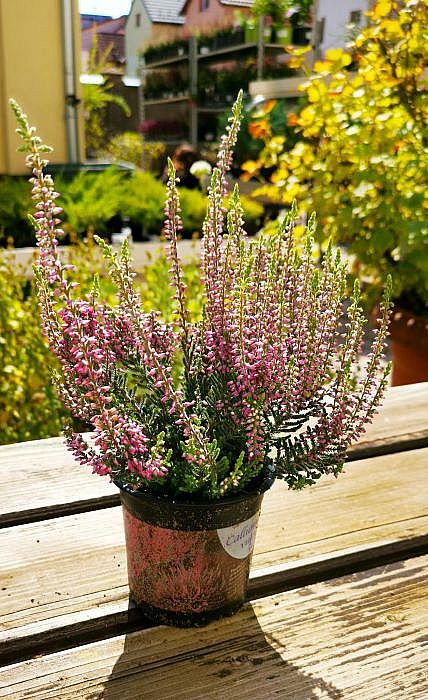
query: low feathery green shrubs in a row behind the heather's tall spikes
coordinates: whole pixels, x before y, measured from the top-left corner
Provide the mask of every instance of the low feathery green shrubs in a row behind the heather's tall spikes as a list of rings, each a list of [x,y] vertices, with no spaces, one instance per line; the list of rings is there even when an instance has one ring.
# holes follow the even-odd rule
[[[34,245],[35,237],[26,218],[26,211],[31,210],[28,184],[19,178],[6,178],[5,183],[5,188],[0,188],[0,232],[3,231],[4,242],[10,235],[17,247]],[[80,172],[71,181],[58,177],[57,187],[62,193],[58,203],[64,209],[64,228],[78,237],[91,230],[108,236],[120,229],[124,219],[129,220],[136,240],[162,233],[165,185],[149,172],[123,172],[112,166],[99,173]],[[199,190],[181,188],[180,192],[183,236],[189,238],[201,230],[207,198]],[[254,233],[259,228],[263,207],[245,197],[242,204],[248,230]]]

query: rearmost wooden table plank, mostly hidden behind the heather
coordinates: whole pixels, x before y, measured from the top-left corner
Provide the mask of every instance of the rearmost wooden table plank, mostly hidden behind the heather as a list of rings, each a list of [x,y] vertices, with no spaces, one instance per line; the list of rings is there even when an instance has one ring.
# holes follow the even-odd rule
[[[390,389],[351,459],[428,445],[427,416],[428,382]],[[0,447],[0,476],[0,527],[119,503],[114,485],[77,464],[62,438]]]

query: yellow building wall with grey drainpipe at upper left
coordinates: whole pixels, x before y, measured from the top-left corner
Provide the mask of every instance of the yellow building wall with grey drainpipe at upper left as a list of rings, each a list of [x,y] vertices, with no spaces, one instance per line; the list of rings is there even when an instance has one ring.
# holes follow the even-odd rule
[[[80,95],[80,26],[77,0],[72,0],[75,95]],[[25,173],[9,106],[13,97],[54,148],[53,163],[66,163],[66,124],[62,0],[0,0],[0,173]],[[79,160],[84,153],[83,108],[78,106]]]

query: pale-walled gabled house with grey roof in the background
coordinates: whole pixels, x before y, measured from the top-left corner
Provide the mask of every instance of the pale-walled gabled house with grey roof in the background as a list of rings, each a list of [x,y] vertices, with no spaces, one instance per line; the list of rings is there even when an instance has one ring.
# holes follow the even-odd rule
[[[133,0],[125,28],[126,75],[138,77],[141,50],[183,36],[184,0]]]

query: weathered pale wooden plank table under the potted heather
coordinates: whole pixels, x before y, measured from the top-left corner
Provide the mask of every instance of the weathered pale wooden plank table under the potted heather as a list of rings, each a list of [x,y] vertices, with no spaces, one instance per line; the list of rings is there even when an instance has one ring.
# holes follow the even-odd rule
[[[0,698],[428,698],[428,384],[345,474],[264,500],[249,602],[202,629],[129,606],[119,497],[53,438],[0,448]]]

